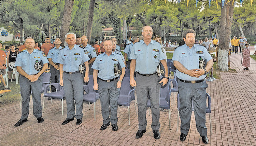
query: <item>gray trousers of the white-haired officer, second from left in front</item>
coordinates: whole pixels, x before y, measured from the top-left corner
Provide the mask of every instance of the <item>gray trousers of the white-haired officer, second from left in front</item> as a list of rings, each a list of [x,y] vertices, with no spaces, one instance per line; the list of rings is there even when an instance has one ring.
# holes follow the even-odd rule
[[[63,85],[67,103],[67,118],[83,118],[84,75],[81,73],[67,74],[63,72]],[[75,113],[75,105],[76,113]]]

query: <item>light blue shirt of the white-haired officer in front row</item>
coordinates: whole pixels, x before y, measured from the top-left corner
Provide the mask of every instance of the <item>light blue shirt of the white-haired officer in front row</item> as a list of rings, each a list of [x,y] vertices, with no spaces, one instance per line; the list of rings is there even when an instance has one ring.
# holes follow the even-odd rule
[[[63,71],[75,72],[78,71],[78,67],[82,62],[90,60],[83,48],[79,45],[74,45],[71,50],[68,46],[60,50],[57,63],[63,65]]]

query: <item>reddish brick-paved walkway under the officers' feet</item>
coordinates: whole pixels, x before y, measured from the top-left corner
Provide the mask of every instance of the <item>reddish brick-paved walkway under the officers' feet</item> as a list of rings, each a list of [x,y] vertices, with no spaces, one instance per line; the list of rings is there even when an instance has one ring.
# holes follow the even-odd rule
[[[211,96],[212,133],[210,134],[209,114],[207,114],[208,145],[256,145],[256,61],[251,59],[249,70],[243,70],[241,54],[231,55],[231,68],[237,73],[221,73],[221,79],[208,82],[207,92]],[[168,112],[160,111],[161,138],[153,138],[152,116],[148,114],[146,133],[135,139],[138,130],[138,116],[131,103],[131,125],[128,125],[128,108],[120,107],[118,114],[118,131],[109,126],[101,131],[102,125],[100,101],[96,102],[96,121],[93,106],[89,110],[84,103],[83,123],[77,126],[76,120],[61,125],[66,119],[66,102],[64,116],[61,115],[60,102],[57,99],[46,101],[44,122],[37,123],[33,116],[32,99],[28,122],[19,127],[14,124],[21,116],[19,102],[0,107],[0,145],[204,145],[196,130],[194,112],[191,117],[190,131],[187,139],[181,142],[180,129],[177,126],[177,100],[171,95],[171,130],[169,130]],[[42,98],[43,99],[43,98]],[[179,124],[180,125],[180,124]]]

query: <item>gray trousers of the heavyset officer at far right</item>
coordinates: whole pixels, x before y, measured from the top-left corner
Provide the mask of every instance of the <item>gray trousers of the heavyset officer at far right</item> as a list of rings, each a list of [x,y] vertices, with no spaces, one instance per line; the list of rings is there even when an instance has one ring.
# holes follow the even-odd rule
[[[180,94],[180,117],[181,117],[181,133],[187,134],[190,128],[190,119],[192,112],[192,101],[194,104],[196,127],[200,135],[207,135],[205,126],[205,109],[206,109],[206,88],[205,81],[201,83],[184,83],[178,81],[178,90]]]

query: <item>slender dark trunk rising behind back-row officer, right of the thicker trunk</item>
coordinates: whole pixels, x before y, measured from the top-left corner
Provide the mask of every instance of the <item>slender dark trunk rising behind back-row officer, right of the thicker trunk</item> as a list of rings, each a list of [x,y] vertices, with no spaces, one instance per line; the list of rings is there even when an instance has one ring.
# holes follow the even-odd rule
[[[90,1],[88,23],[86,28],[86,36],[88,38],[88,44],[91,42],[91,30],[93,28],[93,13],[94,13],[95,0]]]

